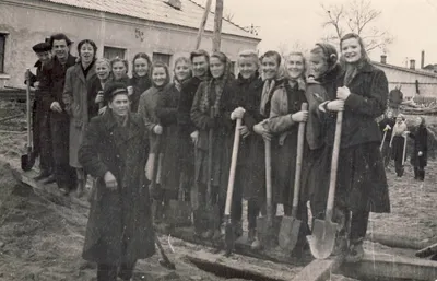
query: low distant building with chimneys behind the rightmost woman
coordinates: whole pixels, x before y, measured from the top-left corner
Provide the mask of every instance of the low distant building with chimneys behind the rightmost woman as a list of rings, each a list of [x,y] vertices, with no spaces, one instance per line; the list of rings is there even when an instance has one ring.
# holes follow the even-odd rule
[[[381,61],[373,63],[386,72],[389,81],[389,90],[402,86],[405,97],[415,95],[437,97],[437,73],[415,68],[415,60],[410,60],[410,68],[403,68],[387,63],[387,57],[381,56]]]

